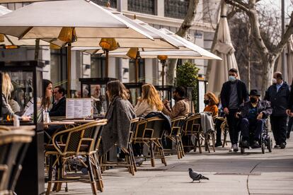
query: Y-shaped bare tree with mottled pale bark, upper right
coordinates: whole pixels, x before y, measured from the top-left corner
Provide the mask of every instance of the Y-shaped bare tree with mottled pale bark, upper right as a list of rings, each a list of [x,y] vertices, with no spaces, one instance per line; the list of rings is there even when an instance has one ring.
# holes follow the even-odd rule
[[[251,25],[251,40],[255,44],[255,47],[258,49],[260,57],[263,64],[263,84],[262,91],[271,83],[272,73],[274,71],[275,61],[277,57],[280,56],[282,49],[285,47],[287,40],[289,40],[290,35],[293,34],[293,12],[290,16],[289,26],[285,31],[285,34],[281,37],[280,41],[275,47],[269,47],[265,44],[263,36],[261,35],[260,30],[260,20],[256,4],[259,0],[225,0],[226,4],[240,8],[248,16],[249,23]]]

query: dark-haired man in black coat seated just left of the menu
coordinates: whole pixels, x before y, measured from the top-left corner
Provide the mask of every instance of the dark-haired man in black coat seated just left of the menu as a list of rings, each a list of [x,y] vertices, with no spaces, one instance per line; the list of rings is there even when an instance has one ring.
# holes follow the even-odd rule
[[[66,98],[65,90],[62,86],[54,88],[54,104],[49,112],[50,117],[65,117],[66,114]]]

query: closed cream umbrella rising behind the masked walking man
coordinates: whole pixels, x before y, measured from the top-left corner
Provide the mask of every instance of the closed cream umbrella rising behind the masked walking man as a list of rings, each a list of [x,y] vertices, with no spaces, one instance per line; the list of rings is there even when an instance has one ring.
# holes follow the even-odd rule
[[[211,71],[209,73],[209,80],[207,91],[219,95],[224,82],[228,81],[229,69],[237,69],[237,62],[235,59],[235,49],[231,42],[230,30],[225,16],[226,10],[222,9],[222,16],[219,20],[219,30],[217,34],[217,42],[214,45],[214,54],[221,57],[222,61],[212,61]],[[224,16],[223,16],[224,15]]]

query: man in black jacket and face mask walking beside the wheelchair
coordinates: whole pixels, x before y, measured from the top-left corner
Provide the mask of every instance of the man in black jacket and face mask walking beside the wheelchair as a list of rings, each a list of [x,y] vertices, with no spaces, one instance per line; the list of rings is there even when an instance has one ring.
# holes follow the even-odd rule
[[[237,152],[239,150],[238,143],[238,128],[239,119],[236,118],[236,112],[243,102],[248,101],[248,92],[246,84],[238,79],[238,71],[236,69],[229,70],[229,81],[223,84],[221,90],[221,102],[224,107],[224,113],[229,125],[229,135],[231,140],[230,151]]]

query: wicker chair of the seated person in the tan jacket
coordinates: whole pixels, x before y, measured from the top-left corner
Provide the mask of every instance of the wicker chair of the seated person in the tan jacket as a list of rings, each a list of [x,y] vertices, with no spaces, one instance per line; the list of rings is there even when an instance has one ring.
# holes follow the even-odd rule
[[[178,159],[183,158],[184,156],[184,149],[182,143],[182,129],[185,123],[186,117],[176,117],[171,120],[171,134],[167,136],[172,142],[175,143],[176,146],[176,153]],[[168,151],[164,149],[164,151]]]

